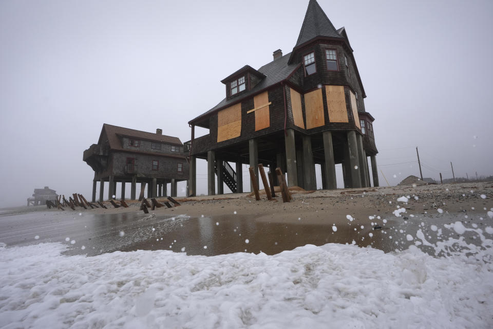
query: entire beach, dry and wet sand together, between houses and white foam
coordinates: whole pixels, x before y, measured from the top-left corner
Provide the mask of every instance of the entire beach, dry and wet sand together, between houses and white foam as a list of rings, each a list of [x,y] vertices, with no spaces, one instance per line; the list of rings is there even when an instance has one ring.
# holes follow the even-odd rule
[[[401,196],[409,196],[409,202],[397,202]],[[492,198],[493,183],[487,182],[294,192],[291,203],[282,203],[279,196],[269,201],[264,195],[256,201],[249,193],[176,198],[181,206],[157,208],[150,214],[139,211],[138,202],[127,202],[129,208],[76,211],[23,207],[0,211],[0,242],[8,246],[62,242],[71,247],[68,254],[87,255],[137,249],[275,254],[326,243],[354,243],[388,252],[414,244],[406,236],[414,236],[418,229],[432,243],[457,237],[453,230],[437,236],[431,225],[443,228],[460,221],[466,227],[493,226],[487,215]],[[30,212],[35,208],[39,211]],[[406,212],[397,217],[393,212],[400,208]],[[375,230],[376,225],[382,229]],[[477,239],[472,233],[464,237],[469,243]]]

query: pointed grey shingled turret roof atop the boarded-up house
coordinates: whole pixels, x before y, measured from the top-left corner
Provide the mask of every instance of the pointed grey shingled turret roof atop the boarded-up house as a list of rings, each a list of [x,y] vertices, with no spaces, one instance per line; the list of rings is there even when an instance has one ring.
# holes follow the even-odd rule
[[[308,3],[307,13],[305,14],[305,20],[301,25],[299,31],[298,41],[296,42],[297,48],[306,42],[315,39],[317,36],[326,36],[328,38],[343,38],[334,25],[330,22],[325,12],[320,8],[316,0],[310,0]]]

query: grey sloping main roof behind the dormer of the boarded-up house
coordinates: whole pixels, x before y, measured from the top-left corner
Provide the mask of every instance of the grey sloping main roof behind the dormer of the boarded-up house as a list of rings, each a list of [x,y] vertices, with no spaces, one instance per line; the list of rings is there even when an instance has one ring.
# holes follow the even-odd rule
[[[294,70],[298,68],[298,66],[300,65],[298,63],[288,64],[290,54],[291,53],[287,53],[285,56],[282,56],[281,58],[278,58],[260,67],[257,71],[260,72],[262,75],[264,75],[265,78],[263,78],[255,87],[243,93],[241,96],[230,98],[230,99],[224,98],[221,102],[219,102],[219,104],[211,108],[209,111],[199,115],[195,119],[188,121],[188,123],[196,124],[198,126],[208,128],[208,121],[207,122],[199,122],[199,121],[205,119],[208,115],[218,111],[219,109],[222,109],[229,105],[234,105],[240,102],[244,98],[252,97],[253,95],[258,94],[261,90],[264,90],[270,86],[273,86],[289,78],[290,75],[294,72]]]

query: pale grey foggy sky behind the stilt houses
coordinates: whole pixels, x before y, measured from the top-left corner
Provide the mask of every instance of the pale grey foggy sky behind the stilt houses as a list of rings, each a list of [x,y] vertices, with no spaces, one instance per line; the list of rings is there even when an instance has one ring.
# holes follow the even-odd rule
[[[493,2],[318,3],[346,27],[375,117],[378,169],[391,185],[419,176],[416,146],[425,177],[451,177],[450,161],[456,177],[493,174]],[[89,198],[93,171],[82,153],[103,123],[189,140],[187,121],[224,98],[220,80],[292,50],[307,6],[3,0],[0,207],[25,205],[43,186]]]

